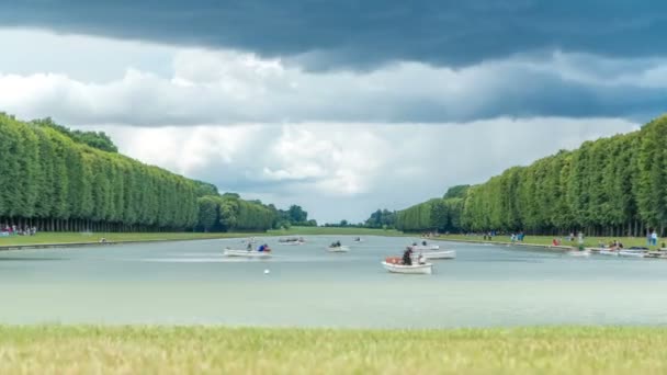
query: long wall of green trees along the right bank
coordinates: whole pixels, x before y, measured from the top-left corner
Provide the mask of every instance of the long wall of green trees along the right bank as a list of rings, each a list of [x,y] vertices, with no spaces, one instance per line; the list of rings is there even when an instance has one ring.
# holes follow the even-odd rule
[[[456,186],[396,216],[396,228],[407,231],[643,236],[664,234],[666,223],[667,116],[510,168],[486,183]]]

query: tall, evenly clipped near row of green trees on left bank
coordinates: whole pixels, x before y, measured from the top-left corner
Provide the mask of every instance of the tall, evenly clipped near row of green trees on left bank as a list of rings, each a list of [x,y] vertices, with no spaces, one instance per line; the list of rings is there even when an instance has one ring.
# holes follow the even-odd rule
[[[196,223],[188,179],[0,115],[0,224],[46,230],[180,229]]]

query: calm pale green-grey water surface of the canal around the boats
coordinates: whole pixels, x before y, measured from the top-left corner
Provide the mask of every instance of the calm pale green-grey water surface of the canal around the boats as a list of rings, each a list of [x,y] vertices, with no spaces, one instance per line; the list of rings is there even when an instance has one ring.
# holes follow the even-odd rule
[[[457,259],[400,275],[380,262],[411,239],[352,238],[267,238],[270,260],[224,258],[239,239],[0,252],[0,323],[667,325],[665,260],[440,242]]]

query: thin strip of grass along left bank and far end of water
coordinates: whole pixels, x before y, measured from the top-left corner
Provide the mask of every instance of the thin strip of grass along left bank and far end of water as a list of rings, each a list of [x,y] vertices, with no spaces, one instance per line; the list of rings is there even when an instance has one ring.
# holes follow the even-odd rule
[[[38,232],[36,236],[11,236],[0,237],[0,247],[15,245],[39,245],[39,243],[76,243],[97,242],[101,238],[109,241],[155,241],[155,240],[193,240],[213,238],[247,238],[261,236],[403,236],[396,230],[368,229],[368,228],[320,228],[320,227],[293,227],[287,230],[269,230],[267,232],[150,232],[150,234],[81,234],[81,232]]]

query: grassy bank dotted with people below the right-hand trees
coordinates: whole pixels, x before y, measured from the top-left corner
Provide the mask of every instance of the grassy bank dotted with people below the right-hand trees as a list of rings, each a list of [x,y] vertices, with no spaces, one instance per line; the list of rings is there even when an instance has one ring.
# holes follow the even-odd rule
[[[524,245],[539,245],[539,246],[551,246],[554,238],[558,238],[562,240],[562,246],[574,246],[577,247],[579,245],[578,240],[575,238],[574,241],[569,241],[568,238],[564,237],[554,237],[554,236],[525,236],[523,239]],[[439,239],[443,240],[456,240],[456,241],[485,241],[483,236],[464,236],[464,235],[448,235],[440,236]],[[630,248],[633,246],[636,247],[647,247],[646,238],[638,237],[587,237],[584,239],[584,246],[587,248],[597,248],[600,242],[609,245],[610,241],[619,240],[623,243],[625,248]],[[662,242],[666,240],[658,240],[658,246],[648,247],[651,249],[658,249],[662,246]],[[493,241],[496,243],[511,243],[511,239],[509,236],[496,236],[493,238]],[[517,242],[521,243],[521,242]]]

